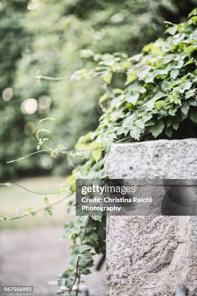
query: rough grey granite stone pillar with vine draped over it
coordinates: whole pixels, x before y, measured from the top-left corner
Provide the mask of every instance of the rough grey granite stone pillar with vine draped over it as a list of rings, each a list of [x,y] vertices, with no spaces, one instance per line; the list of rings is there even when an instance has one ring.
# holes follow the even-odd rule
[[[114,144],[109,178],[197,178],[197,139]],[[184,283],[197,296],[196,216],[111,216],[107,282],[113,296],[173,296]]]

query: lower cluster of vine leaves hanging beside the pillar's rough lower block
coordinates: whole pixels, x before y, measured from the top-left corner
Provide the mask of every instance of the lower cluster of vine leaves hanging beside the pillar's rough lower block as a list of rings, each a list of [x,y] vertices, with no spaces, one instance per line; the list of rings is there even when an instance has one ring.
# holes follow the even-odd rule
[[[106,237],[106,217],[101,216],[83,216],[79,217],[75,223],[70,222],[64,226],[64,236],[74,242],[70,248],[70,261],[68,269],[59,277],[58,284],[65,285],[69,289],[80,275],[91,273],[90,267],[93,266],[91,249],[95,252],[105,254]],[[81,241],[76,245],[76,241]],[[76,270],[77,269],[77,270]]]

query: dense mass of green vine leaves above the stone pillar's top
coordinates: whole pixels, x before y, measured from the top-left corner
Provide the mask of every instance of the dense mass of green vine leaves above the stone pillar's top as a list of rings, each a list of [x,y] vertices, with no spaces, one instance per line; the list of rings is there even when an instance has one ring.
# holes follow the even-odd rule
[[[166,30],[171,34],[169,37],[145,45],[139,55],[127,59],[120,53],[99,56],[98,67],[85,75],[101,75],[104,80],[103,89],[106,89],[108,97],[103,107],[104,113],[99,119],[99,127],[94,133],[81,137],[77,148],[91,147],[92,142],[106,146],[108,139],[120,141],[125,137],[129,141],[158,136],[176,138],[183,133],[183,122],[188,124],[188,136],[196,135],[195,14],[196,10],[190,14],[188,22],[169,27]],[[120,73],[125,74],[126,81],[125,87],[117,92],[108,86],[110,81],[106,82],[106,75],[114,77],[113,80]],[[81,74],[81,78],[83,76]],[[169,131],[172,132],[171,136]]]

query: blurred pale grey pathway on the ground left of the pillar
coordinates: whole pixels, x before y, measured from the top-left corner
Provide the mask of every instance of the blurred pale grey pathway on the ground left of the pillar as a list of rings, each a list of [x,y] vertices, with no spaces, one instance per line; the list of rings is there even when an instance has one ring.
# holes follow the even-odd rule
[[[62,233],[61,226],[1,231],[0,285],[33,285],[33,296],[55,296],[57,286],[47,282],[55,281],[65,270],[70,253],[67,250],[70,242],[59,241]],[[106,295],[105,266],[99,272],[94,269],[92,272],[85,277],[91,295]]]

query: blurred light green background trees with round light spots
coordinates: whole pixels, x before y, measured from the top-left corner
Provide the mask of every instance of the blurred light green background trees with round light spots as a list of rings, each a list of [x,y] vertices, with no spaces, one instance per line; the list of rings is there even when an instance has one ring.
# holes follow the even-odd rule
[[[28,11],[19,22],[13,4],[18,2],[22,1],[11,1],[11,15],[5,14],[13,21],[16,17],[22,26],[17,39],[23,44],[23,56],[13,71],[13,99],[2,104],[5,110],[0,130],[6,146],[0,147],[0,174],[4,176],[11,173],[10,169],[13,173],[27,169],[47,172],[52,168],[67,173],[70,169],[65,158],[58,157],[54,162],[50,155],[40,154],[10,166],[9,170],[6,166],[3,171],[5,160],[35,150],[32,135],[40,118],[56,118],[55,124],[44,124],[47,129],[52,128],[54,147],[58,143],[73,148],[80,135],[98,124],[99,78],[78,83],[70,79],[37,81],[33,78],[36,73],[61,77],[70,76],[77,69],[92,68],[92,52],[136,54],[144,44],[161,36],[164,20],[179,23],[197,6],[197,0],[34,0],[28,2]],[[15,42],[10,42],[15,46]],[[5,53],[6,46],[2,50]],[[121,87],[123,80],[114,83]],[[10,85],[6,83],[3,89]],[[73,160],[69,159],[70,163]]]

